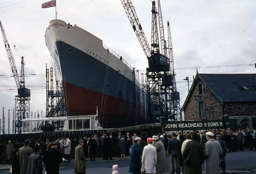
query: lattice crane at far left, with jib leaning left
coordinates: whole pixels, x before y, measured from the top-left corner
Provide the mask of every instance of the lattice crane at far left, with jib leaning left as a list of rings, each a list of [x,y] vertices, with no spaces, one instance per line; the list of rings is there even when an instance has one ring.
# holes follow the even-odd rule
[[[3,42],[6,49],[7,57],[11,65],[13,77],[15,79],[15,83],[18,89],[18,95],[15,96],[15,134],[19,134],[22,132],[21,120],[29,117],[30,90],[25,87],[24,58],[21,57],[21,67],[19,76],[17,73],[15,60],[12,55],[12,50],[10,48],[1,21],[0,28],[3,35]],[[25,125],[25,128],[29,128],[29,125]]]

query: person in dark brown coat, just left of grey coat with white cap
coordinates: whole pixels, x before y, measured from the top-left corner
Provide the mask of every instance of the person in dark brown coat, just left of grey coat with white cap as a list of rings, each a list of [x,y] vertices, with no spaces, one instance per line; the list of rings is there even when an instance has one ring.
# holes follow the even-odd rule
[[[182,157],[188,162],[184,165],[183,174],[202,174],[202,164],[204,162],[204,145],[198,141],[198,134],[192,133],[191,141],[186,143]]]

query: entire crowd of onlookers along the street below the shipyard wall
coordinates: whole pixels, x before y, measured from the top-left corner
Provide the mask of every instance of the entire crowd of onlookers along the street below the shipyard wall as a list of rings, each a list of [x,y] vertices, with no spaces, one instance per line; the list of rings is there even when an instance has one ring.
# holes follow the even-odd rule
[[[134,133],[130,136],[127,132],[117,136],[112,133],[102,133],[91,136],[84,135],[76,146],[75,168],[76,174],[85,173],[85,162],[96,161],[96,157],[104,160],[113,160],[114,152],[120,154],[120,159],[130,157],[129,173],[140,174],[142,167],[146,174],[163,174],[168,171],[166,156],[170,158],[170,173],[180,174],[180,166],[183,166],[183,174],[202,173],[201,165],[205,163],[206,174],[218,174],[220,170],[226,172],[225,154],[235,152],[237,149],[244,151],[244,146],[250,150],[256,150],[256,129],[249,128],[232,131],[208,130],[187,132],[186,134],[172,133],[159,134],[148,137],[142,147],[142,139]],[[29,147],[30,146],[30,147]],[[25,140],[24,146],[14,149],[11,141],[6,146],[6,162],[12,164],[13,174],[42,174],[42,164],[46,166],[47,174],[58,174],[59,164],[70,163],[71,141],[65,137],[57,137],[54,141],[45,139],[36,140],[31,148],[31,142]],[[176,164],[176,165],[175,165]],[[117,174],[118,165],[113,166],[113,172]]]

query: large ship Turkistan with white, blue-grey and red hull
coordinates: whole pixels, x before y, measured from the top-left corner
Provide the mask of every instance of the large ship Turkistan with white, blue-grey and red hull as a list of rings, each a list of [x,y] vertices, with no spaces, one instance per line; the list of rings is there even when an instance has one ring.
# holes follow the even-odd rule
[[[95,114],[98,107],[103,128],[147,123],[146,93],[137,72],[101,39],[56,19],[45,42],[61,73],[67,116]]]

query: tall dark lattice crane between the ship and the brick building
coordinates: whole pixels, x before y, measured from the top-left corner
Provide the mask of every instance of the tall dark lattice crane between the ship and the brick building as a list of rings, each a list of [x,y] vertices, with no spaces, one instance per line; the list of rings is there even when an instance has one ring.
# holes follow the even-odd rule
[[[172,90],[174,75],[170,72],[170,61],[167,57],[160,0],[158,0],[158,12],[155,1],[152,1],[151,54],[148,53],[149,46],[147,46],[148,44],[146,43],[145,34],[131,0],[121,0],[121,2],[143,51],[148,58],[146,82],[149,122],[158,122],[157,118],[159,119],[160,116],[164,116],[166,119],[181,120],[182,117],[180,115],[175,115],[174,112],[172,112],[173,106],[171,101],[173,99]],[[157,15],[160,26],[161,53],[157,28]]]

